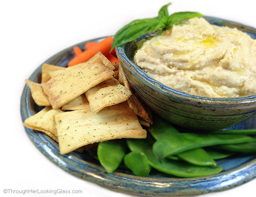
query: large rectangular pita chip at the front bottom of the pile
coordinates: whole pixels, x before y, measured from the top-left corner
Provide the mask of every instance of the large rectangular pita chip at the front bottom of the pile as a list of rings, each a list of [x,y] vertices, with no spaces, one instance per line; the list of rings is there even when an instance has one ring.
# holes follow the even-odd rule
[[[137,115],[127,102],[102,109],[75,110],[55,115],[61,154],[87,144],[118,138],[146,138]]]

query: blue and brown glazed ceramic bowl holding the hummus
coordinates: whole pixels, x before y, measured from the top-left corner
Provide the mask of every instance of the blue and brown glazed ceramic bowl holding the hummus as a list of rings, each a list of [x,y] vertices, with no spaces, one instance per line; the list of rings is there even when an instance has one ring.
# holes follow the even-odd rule
[[[204,17],[210,24],[236,27],[256,39],[256,29],[236,22]],[[146,75],[131,59],[136,43],[154,36],[146,34],[123,44],[116,53],[127,79],[137,95],[157,114],[177,126],[211,131],[234,126],[256,114],[256,95],[237,98],[206,98],[166,87]]]

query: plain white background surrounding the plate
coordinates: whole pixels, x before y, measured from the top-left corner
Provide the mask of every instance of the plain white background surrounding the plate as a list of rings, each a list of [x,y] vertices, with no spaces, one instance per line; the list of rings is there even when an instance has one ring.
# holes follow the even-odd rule
[[[170,13],[198,11],[204,15],[256,27],[255,1],[170,1],[173,3],[169,7]],[[87,39],[113,35],[133,19],[154,17],[167,2],[169,1],[1,1],[1,196],[16,196],[2,195],[3,189],[70,189],[82,190],[83,194],[78,196],[130,196],[76,178],[45,158],[31,143],[22,127],[19,99],[25,85],[24,80],[53,54]],[[204,197],[255,197],[255,185],[256,180],[253,180],[235,189]]]

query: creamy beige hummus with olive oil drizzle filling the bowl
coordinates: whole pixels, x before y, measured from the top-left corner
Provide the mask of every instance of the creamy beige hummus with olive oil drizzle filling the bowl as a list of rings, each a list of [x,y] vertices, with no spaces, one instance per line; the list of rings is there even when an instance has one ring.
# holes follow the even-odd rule
[[[145,41],[135,63],[164,85],[201,97],[256,94],[256,40],[194,18]]]

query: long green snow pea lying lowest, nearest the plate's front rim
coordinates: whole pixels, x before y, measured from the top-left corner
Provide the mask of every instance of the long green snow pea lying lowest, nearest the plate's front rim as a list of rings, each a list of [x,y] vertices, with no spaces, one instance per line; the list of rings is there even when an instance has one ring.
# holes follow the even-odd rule
[[[221,172],[221,166],[197,166],[186,161],[172,161],[164,158],[161,162],[152,151],[152,146],[145,139],[126,139],[131,151],[142,151],[147,156],[149,165],[160,172],[177,177],[201,177]]]

